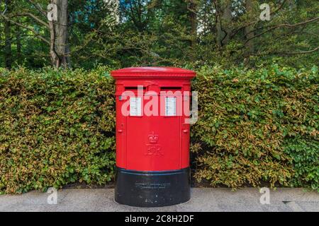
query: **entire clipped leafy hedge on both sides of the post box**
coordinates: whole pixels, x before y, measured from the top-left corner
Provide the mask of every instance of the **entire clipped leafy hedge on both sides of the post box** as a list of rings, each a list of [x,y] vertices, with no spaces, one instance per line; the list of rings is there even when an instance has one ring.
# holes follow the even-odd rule
[[[0,69],[0,192],[104,184],[115,163],[110,69]],[[318,189],[318,69],[203,67],[191,127],[198,181]]]

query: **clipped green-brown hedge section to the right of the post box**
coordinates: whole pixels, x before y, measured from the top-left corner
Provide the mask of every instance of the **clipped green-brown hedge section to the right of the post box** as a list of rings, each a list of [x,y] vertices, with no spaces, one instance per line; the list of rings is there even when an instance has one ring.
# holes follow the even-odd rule
[[[192,126],[196,179],[318,188],[318,70],[203,68]]]

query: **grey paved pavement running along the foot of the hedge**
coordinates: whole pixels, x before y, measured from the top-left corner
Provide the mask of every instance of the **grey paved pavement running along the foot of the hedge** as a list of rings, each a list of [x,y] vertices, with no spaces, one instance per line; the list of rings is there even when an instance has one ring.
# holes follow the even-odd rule
[[[259,189],[194,188],[187,203],[162,208],[123,206],[113,201],[113,192],[113,189],[64,189],[57,191],[57,204],[48,204],[51,194],[40,191],[1,195],[0,211],[319,211],[318,192],[303,189],[270,190],[270,203],[262,204],[260,198],[265,194],[259,193]],[[267,198],[263,196],[262,201]]]

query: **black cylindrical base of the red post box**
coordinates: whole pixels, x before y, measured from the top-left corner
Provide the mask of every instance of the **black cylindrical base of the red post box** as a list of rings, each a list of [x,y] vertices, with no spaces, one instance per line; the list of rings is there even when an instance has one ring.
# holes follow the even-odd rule
[[[128,206],[172,206],[189,201],[189,167],[172,171],[145,172],[118,168],[115,201]]]

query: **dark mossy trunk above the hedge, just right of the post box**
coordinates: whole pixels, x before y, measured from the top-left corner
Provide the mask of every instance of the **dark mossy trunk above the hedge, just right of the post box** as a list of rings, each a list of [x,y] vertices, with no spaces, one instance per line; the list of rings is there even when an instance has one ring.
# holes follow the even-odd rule
[[[229,23],[232,20],[232,1],[222,1],[221,4],[216,5],[216,43],[218,47],[227,44],[230,36]]]

